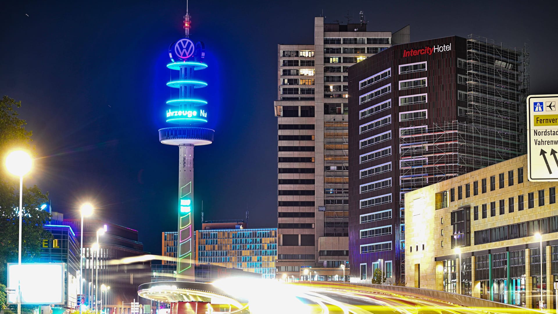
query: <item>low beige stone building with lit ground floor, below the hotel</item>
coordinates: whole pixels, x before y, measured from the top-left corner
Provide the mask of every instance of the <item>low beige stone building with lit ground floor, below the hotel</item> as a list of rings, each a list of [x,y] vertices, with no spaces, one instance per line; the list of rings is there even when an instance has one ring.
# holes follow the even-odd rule
[[[407,286],[533,308],[542,288],[555,308],[556,185],[529,182],[523,155],[409,192]]]

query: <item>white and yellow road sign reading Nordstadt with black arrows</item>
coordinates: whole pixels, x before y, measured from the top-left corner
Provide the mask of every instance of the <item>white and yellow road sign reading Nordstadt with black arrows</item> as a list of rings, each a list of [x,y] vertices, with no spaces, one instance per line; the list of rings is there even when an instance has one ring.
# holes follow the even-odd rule
[[[527,178],[558,181],[558,95],[527,97]]]

